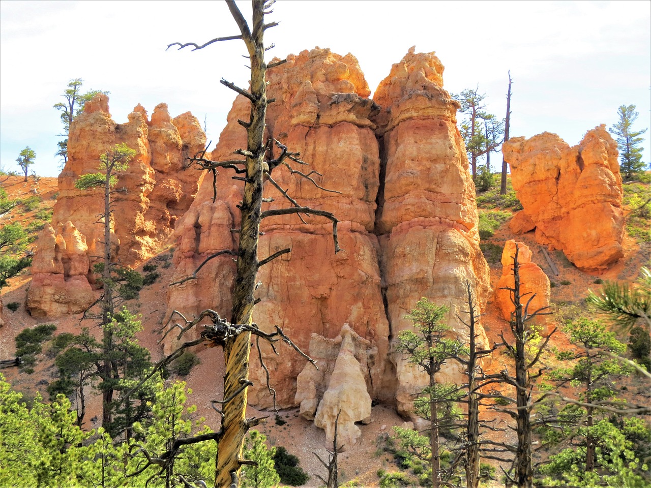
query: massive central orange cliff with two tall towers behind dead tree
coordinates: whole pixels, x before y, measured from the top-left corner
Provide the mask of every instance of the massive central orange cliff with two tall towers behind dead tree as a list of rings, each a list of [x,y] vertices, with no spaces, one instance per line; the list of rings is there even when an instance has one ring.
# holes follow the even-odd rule
[[[478,246],[475,188],[456,128],[458,105],[441,86],[442,72],[434,53],[411,51],[393,66],[374,100],[368,99],[367,83],[350,54],[302,51],[268,72],[268,96],[277,100],[268,110],[268,135],[301,152],[309,170],[324,175],[314,176],[319,185],[340,193],[319,189],[281,167],[271,176],[299,204],[335,213],[344,251],[335,254],[331,224],[325,219],[311,217],[307,224],[295,215],[265,219],[259,259],[285,248],[292,252],[260,269],[254,321],[265,331],[283,327],[303,351],[315,355],[324,341],[340,338],[348,324],[346,334],[364,344],[354,356],[366,365],[359,381],[365,383],[368,398],[393,401],[397,396],[403,413],[413,411],[410,395],[426,384],[420,372],[393,353],[398,333],[410,327],[404,314],[426,296],[450,306],[447,323],[462,335],[464,327],[455,314],[466,309],[466,280],[479,304],[490,291],[488,266]],[[232,159],[234,150],[245,147],[246,133],[237,120],[246,120],[248,113],[247,100],[238,96],[211,159]],[[191,275],[214,252],[236,249],[237,234],[230,229],[238,227],[242,185],[230,176],[223,171],[218,177],[215,203],[212,180],[204,180],[179,222],[177,278]],[[265,209],[290,205],[270,183],[264,196],[274,198]],[[229,317],[233,276],[232,256],[211,260],[196,280],[171,288],[169,312],[210,307]],[[174,347],[172,336],[166,351]],[[310,409],[305,416],[316,415],[327,424],[324,412],[334,407],[324,394],[337,388],[328,386],[329,375],[319,376],[314,392],[297,392],[305,359],[288,347],[281,346],[281,357],[262,347],[279,406],[304,404]],[[324,368],[333,371],[339,355],[327,359],[332,364]],[[252,364],[255,386],[249,401],[269,407],[264,371],[256,360]],[[457,372],[445,374],[451,379]],[[317,414],[326,400],[329,407]],[[366,405],[348,411],[365,412]],[[351,422],[359,420],[355,415]],[[351,427],[350,435],[354,431]]]

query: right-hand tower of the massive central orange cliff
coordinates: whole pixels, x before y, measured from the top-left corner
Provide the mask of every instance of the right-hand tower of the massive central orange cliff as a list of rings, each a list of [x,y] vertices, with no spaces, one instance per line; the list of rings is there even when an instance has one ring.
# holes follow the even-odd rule
[[[443,89],[443,65],[413,47],[380,82],[374,118],[383,155],[383,191],[376,233],[391,333],[412,327],[404,316],[421,297],[447,305],[445,323],[464,337],[458,321],[467,310],[465,284],[482,306],[490,291],[488,265],[479,249],[475,185],[456,126],[457,102]],[[480,330],[480,342],[487,344]],[[393,356],[398,411],[411,414],[414,394],[427,378],[405,357]],[[442,376],[458,379],[454,366]]]

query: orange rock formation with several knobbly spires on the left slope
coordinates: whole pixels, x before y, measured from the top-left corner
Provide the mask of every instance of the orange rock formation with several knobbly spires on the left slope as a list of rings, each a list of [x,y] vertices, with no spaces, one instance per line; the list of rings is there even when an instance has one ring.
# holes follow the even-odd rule
[[[27,292],[27,308],[34,316],[78,313],[94,301],[90,283],[92,265],[104,252],[104,225],[98,223],[104,192],[80,190],[74,183],[81,174],[98,172],[100,155],[120,142],[136,151],[118,178],[118,187],[126,190],[113,195],[111,243],[113,256],[123,265],[136,266],[156,254],[197,193],[199,174],[183,170],[187,156],[206,143],[199,121],[190,113],[171,119],[167,105],[160,103],[151,121],[137,105],[126,124],[117,124],[108,101],[104,94],[96,95],[70,126],[52,226],[38,240]],[[77,236],[76,245],[71,247],[68,234]],[[74,256],[66,257],[71,252]]]

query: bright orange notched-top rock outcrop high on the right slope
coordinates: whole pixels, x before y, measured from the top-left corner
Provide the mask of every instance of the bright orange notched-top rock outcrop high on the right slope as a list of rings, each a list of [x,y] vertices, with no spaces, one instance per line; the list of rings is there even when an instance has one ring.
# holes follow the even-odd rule
[[[570,147],[544,132],[503,144],[511,181],[527,219],[513,230],[536,228],[536,242],[561,249],[579,269],[605,269],[623,256],[622,178],[617,143],[605,125]],[[598,218],[596,218],[598,217]]]

